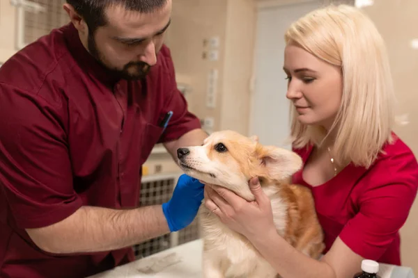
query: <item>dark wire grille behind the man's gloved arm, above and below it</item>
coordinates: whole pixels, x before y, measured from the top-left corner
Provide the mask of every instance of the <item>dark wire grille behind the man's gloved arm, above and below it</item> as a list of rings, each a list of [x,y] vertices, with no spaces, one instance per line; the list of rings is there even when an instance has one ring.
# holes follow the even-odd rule
[[[139,197],[140,206],[152,206],[169,201],[178,177],[178,174],[158,174],[143,177],[141,181],[141,197]],[[141,259],[198,238],[199,218],[196,218],[192,224],[181,231],[134,245],[134,254],[137,259]]]

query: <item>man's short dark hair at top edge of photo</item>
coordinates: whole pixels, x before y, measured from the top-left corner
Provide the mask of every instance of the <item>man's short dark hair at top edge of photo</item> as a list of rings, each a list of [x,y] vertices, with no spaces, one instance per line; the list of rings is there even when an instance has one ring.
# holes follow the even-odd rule
[[[100,26],[107,24],[104,10],[109,6],[124,6],[127,10],[139,13],[152,13],[164,7],[167,0],[67,0],[75,11],[84,19],[90,35]]]

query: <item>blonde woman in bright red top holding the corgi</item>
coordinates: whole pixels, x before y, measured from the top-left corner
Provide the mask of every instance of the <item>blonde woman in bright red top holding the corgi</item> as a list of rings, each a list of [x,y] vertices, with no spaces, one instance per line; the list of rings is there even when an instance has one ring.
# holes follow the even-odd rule
[[[206,206],[219,207],[214,213],[284,278],[353,277],[362,259],[400,265],[398,231],[417,195],[418,165],[392,131],[394,92],[380,34],[356,8],[329,6],[291,25],[285,39],[291,135],[304,161],[293,182],[312,190],[324,256],[310,259],[277,234],[256,178],[255,203],[242,206],[231,191],[206,186]]]

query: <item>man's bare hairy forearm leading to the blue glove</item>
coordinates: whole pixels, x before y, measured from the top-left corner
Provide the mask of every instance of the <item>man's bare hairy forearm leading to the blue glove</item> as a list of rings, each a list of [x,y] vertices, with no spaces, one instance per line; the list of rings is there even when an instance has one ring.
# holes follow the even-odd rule
[[[54,254],[116,250],[169,233],[161,206],[114,210],[82,206],[65,220],[28,229],[38,247]]]

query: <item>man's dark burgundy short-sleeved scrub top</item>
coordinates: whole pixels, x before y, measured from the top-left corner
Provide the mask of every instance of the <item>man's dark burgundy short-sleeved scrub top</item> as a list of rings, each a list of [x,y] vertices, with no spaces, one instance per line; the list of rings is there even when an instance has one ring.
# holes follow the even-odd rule
[[[137,206],[155,143],[199,128],[165,46],[142,84],[104,70],[72,24],[19,51],[0,68],[0,277],[86,277],[134,259],[132,248],[47,254],[25,229],[80,206]]]

